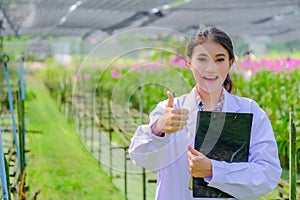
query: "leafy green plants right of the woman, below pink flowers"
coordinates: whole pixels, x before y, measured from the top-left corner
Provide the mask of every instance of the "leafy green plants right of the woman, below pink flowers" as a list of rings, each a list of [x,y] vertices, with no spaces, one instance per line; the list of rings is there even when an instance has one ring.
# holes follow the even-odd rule
[[[294,111],[296,126],[299,127],[299,76],[300,69],[296,68],[278,74],[261,71],[254,74],[249,82],[242,77],[234,77],[237,94],[254,99],[269,116],[284,168],[288,168],[289,112]],[[297,136],[297,145],[300,166],[300,136]]]

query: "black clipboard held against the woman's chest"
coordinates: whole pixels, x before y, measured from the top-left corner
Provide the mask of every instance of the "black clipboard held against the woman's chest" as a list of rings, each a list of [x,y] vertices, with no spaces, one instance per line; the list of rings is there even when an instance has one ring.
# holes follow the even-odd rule
[[[252,113],[199,111],[195,149],[210,159],[247,162],[252,119]],[[193,178],[193,197],[232,198],[203,178]]]

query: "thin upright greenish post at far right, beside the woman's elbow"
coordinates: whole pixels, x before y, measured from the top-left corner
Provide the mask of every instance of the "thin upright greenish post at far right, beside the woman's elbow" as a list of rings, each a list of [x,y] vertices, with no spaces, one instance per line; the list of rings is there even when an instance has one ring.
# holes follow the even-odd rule
[[[290,112],[290,162],[289,162],[289,181],[290,181],[290,200],[296,200],[296,175],[297,175],[297,149],[296,149],[296,126],[293,121],[293,112]]]

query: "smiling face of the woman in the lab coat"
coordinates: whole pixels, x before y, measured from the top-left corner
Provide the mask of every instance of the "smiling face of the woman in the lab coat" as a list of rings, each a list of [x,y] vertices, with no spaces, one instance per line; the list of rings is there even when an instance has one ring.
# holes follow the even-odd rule
[[[188,58],[197,86],[202,92],[220,92],[234,60],[219,43],[208,40],[194,47]]]

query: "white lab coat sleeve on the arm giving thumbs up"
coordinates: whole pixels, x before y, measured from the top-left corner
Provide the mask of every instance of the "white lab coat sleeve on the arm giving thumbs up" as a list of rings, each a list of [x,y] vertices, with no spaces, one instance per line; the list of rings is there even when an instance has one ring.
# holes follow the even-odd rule
[[[160,102],[156,106],[150,113],[150,123],[137,128],[129,146],[131,161],[150,171],[156,171],[166,165],[163,156],[171,135],[159,137],[151,132],[151,125],[164,113],[166,106],[167,101]]]

